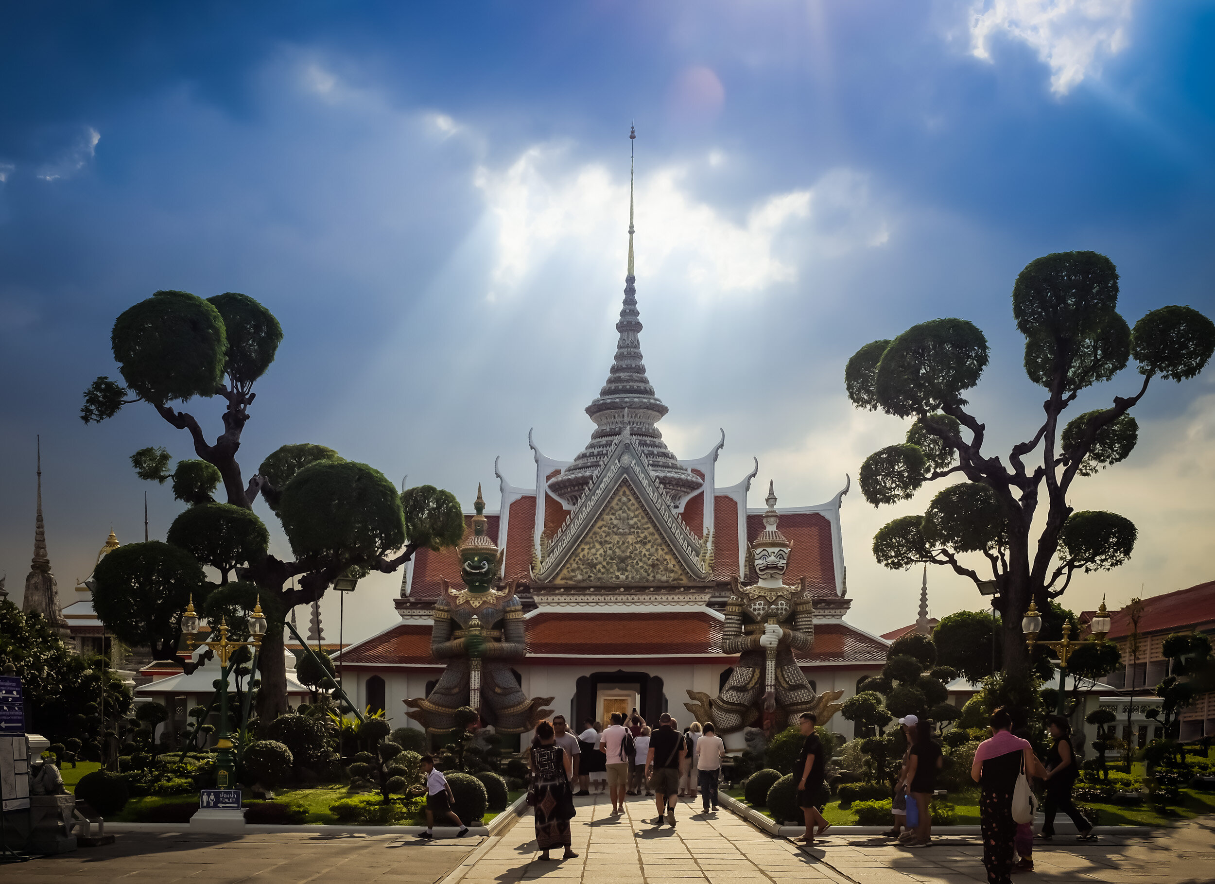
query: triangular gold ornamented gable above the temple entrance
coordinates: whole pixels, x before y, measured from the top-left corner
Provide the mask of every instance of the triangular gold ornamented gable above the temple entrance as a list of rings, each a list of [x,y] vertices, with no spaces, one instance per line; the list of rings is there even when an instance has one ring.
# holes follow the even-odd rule
[[[535,568],[538,583],[688,584],[712,579],[706,539],[671,506],[626,429]]]

